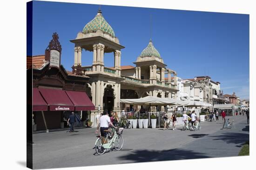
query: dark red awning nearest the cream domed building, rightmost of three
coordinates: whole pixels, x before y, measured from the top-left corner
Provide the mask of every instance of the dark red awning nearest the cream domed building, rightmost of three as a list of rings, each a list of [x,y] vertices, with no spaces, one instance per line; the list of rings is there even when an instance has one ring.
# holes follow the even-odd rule
[[[70,100],[74,103],[75,111],[94,110],[95,106],[85,92],[66,91]]]

